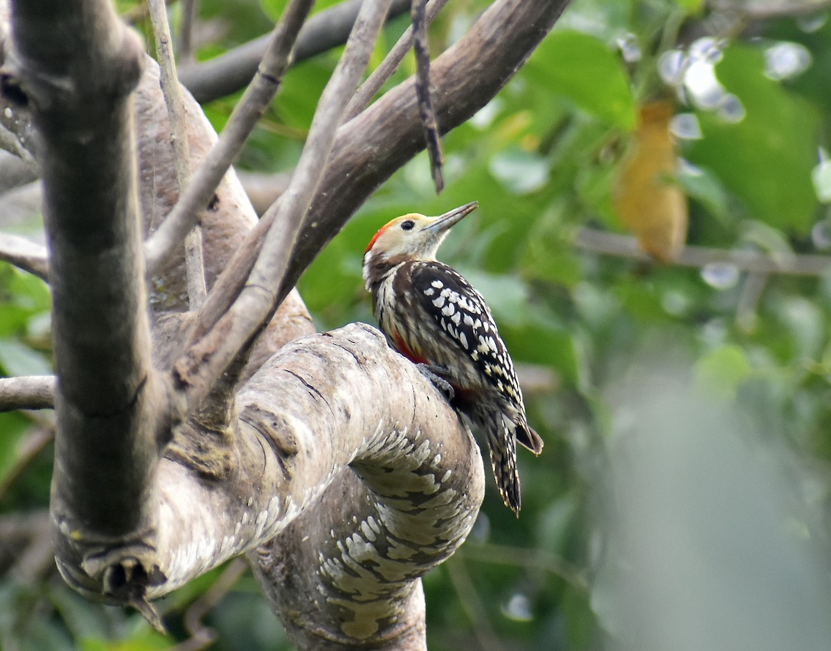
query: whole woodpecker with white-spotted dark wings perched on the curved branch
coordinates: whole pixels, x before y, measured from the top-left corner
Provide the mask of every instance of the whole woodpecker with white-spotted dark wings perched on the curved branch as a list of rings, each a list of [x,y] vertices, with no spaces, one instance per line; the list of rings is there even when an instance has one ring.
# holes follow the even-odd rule
[[[482,295],[435,259],[450,228],[478,204],[444,215],[396,217],[370,240],[363,278],[387,341],[439,387],[485,434],[499,494],[519,515],[516,443],[534,454],[543,440],[529,427],[514,362]]]

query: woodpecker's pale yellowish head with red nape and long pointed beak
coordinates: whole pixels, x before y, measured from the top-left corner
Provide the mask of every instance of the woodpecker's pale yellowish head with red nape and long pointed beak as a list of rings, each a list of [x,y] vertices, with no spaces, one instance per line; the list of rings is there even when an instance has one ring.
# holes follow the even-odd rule
[[[364,268],[380,260],[435,260],[435,253],[450,229],[478,205],[471,201],[438,217],[410,213],[392,219],[381,226],[367,245]]]

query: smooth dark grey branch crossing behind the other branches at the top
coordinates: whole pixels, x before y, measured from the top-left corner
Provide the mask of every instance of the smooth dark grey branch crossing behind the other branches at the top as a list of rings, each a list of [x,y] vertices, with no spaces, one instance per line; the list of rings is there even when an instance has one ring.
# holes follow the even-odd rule
[[[305,61],[347,42],[361,2],[346,0],[312,16],[297,37],[293,62]],[[400,16],[409,8],[410,0],[392,0],[386,19]],[[200,103],[230,95],[251,81],[268,39],[268,35],[259,37],[209,61],[183,66],[179,80]]]

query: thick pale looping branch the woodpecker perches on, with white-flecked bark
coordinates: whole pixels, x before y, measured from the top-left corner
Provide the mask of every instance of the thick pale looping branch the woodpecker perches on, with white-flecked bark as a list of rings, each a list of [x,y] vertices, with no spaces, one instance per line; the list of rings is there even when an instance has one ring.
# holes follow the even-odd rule
[[[484,466],[470,431],[418,369],[363,324],[288,344],[240,390],[237,409],[241,427],[231,443],[181,435],[181,445],[190,438],[222,473],[200,478],[181,457],[160,464],[166,580],[152,596],[279,534],[257,555],[261,576],[277,581],[263,587],[283,621],[293,622],[290,631],[305,618],[314,630],[298,636],[395,648],[372,644],[412,628],[395,618],[417,619],[418,609],[404,603],[420,590],[414,582],[452,554],[475,521]],[[79,565],[59,557],[76,589],[100,594]],[[288,576],[281,567],[304,570]]]

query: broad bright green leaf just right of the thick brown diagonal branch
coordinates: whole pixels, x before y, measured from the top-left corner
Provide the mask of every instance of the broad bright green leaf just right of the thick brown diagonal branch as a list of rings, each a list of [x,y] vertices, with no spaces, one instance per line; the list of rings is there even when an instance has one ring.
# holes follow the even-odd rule
[[[581,32],[552,32],[534,52],[526,75],[543,81],[577,106],[627,131],[635,127],[635,101],[622,62],[599,39]]]

